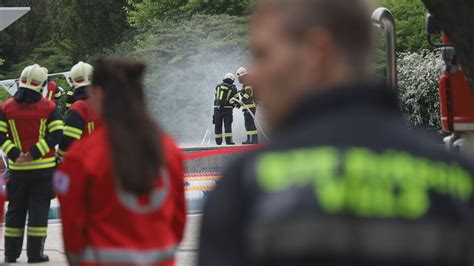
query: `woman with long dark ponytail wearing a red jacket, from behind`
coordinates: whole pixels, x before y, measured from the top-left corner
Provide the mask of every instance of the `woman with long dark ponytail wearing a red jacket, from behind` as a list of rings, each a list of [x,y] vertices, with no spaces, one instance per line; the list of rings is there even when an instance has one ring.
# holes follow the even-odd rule
[[[184,164],[146,108],[144,71],[118,58],[94,64],[89,104],[99,125],[73,144],[54,178],[71,265],[174,265]]]

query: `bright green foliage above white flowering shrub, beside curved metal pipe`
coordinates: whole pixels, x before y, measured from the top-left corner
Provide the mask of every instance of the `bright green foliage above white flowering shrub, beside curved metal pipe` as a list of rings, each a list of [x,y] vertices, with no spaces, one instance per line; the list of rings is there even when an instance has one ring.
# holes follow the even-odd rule
[[[428,11],[421,1],[379,0],[379,4],[390,9],[395,16],[398,52],[432,49],[425,34],[425,16]]]

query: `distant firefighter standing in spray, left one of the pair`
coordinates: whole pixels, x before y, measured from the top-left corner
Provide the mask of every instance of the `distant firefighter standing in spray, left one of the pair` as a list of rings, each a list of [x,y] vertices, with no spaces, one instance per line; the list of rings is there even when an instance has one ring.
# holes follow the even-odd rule
[[[214,133],[217,145],[222,145],[223,138],[225,138],[227,145],[235,145],[232,140],[232,122],[235,105],[231,102],[231,99],[237,95],[237,87],[235,87],[234,82],[234,74],[227,73],[224,76],[223,82],[216,87],[212,122],[215,125]],[[224,126],[224,134],[222,133],[222,126]]]

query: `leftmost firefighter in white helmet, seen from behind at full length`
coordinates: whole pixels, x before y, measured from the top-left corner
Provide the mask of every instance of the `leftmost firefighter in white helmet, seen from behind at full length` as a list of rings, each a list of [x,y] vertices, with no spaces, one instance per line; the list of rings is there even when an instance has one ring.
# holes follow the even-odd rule
[[[47,84],[46,73],[39,65],[26,67],[18,92],[0,107],[0,145],[8,156],[10,172],[5,225],[7,263],[16,262],[20,256],[27,214],[28,262],[49,261],[43,247],[57,164],[54,147],[64,124],[56,104],[41,94]]]

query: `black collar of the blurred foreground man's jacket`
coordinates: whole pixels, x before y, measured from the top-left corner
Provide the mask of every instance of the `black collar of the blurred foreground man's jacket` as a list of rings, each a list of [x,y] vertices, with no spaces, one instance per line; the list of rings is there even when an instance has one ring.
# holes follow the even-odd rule
[[[288,116],[283,127],[330,115],[334,111],[354,105],[400,113],[395,90],[373,84],[354,84],[328,89],[307,97]]]

